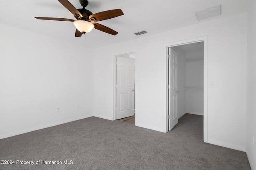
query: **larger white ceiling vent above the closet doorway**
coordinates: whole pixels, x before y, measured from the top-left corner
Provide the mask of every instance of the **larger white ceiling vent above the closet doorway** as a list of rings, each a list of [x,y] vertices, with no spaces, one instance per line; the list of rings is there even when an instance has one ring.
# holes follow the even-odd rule
[[[196,12],[198,21],[215,17],[215,16],[220,16],[220,15],[221,15],[221,5]]]

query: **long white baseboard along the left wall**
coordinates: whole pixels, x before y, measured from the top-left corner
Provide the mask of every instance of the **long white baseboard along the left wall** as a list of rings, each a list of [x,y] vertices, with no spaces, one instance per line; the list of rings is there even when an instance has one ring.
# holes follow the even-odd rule
[[[68,122],[76,121],[76,120],[80,120],[80,119],[85,119],[85,118],[92,117],[92,116],[93,115],[86,115],[86,116],[82,116],[82,117],[76,117],[74,119],[68,119],[68,120],[58,121],[58,122],[55,122],[55,123],[50,123],[50,124],[46,124],[46,125],[42,125],[42,126],[38,126],[38,127],[32,127],[30,129],[25,129],[25,130],[22,130],[22,131],[16,131],[16,132],[13,132],[13,133],[0,135],[0,139],[4,139],[4,138],[7,138],[7,137],[12,137],[12,136],[16,136],[16,135],[21,135],[23,133],[37,131],[37,130],[44,129],[44,128],[47,128],[47,127],[61,125],[61,124],[64,124],[64,123],[68,123]]]

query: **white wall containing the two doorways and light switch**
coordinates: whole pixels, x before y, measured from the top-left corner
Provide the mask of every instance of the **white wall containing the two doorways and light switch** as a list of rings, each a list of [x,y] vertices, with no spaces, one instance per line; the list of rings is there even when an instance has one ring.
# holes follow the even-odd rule
[[[95,49],[94,115],[112,119],[114,113],[112,54],[137,49],[137,125],[165,132],[164,43],[208,35],[208,81],[215,83],[208,88],[208,142],[245,150],[246,18],[244,12]]]

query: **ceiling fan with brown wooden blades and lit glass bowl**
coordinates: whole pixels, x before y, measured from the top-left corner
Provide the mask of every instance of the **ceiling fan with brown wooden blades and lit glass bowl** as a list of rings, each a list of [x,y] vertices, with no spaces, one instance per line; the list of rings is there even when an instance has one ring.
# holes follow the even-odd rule
[[[98,12],[96,14],[92,14],[89,10],[86,10],[85,7],[89,4],[88,0],[79,0],[82,5],[82,9],[76,9],[68,0],[58,0],[64,7],[66,7],[76,18],[67,19],[67,18],[49,18],[49,17],[35,17],[39,20],[54,20],[54,21],[71,21],[74,22],[76,26],[76,37],[81,37],[82,34],[90,32],[93,28],[103,31],[105,33],[109,33],[112,35],[116,35],[118,32],[113,29],[101,25],[99,23],[91,23],[91,21],[102,21],[108,20],[110,18],[115,18],[121,15],[124,15],[121,9],[116,10],[108,10],[103,12]]]

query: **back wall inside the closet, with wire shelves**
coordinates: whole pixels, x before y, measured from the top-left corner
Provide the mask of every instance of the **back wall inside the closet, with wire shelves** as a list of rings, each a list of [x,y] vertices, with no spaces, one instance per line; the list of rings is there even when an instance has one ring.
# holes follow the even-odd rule
[[[186,53],[186,59],[204,58],[204,51]],[[186,61],[186,113],[204,115],[204,60]]]

